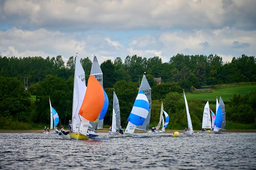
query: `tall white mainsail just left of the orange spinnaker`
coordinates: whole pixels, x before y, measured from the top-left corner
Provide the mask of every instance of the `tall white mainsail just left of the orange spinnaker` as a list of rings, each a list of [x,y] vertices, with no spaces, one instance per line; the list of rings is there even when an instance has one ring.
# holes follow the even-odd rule
[[[79,97],[79,90],[78,90],[78,83],[77,83],[76,76],[85,85],[84,69],[79,61],[78,56],[76,56],[75,60],[76,60],[76,63],[75,63],[73,106],[72,106],[72,132],[78,132],[80,124],[81,124],[81,121],[78,121],[78,120],[81,120],[81,117],[79,115],[78,115],[79,119],[74,118],[75,114],[76,114],[77,107],[78,107],[78,97]]]

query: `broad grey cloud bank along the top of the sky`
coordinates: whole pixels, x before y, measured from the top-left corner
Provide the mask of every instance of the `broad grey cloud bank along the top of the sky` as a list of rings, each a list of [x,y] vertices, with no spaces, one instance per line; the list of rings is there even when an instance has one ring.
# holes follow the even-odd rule
[[[255,29],[256,1],[3,1],[1,23],[18,28]]]

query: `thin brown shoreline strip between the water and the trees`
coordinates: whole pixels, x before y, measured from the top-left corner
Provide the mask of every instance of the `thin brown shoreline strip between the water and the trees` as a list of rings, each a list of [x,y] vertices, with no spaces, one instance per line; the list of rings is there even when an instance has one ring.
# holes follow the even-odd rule
[[[174,129],[166,129],[165,133],[173,133],[178,131],[179,133],[183,133],[183,130],[174,130]],[[194,130],[194,133],[197,133],[201,130]],[[0,133],[43,133],[44,130],[7,130],[1,129]],[[99,133],[108,133],[108,128],[98,129]],[[222,132],[227,133],[256,133],[256,129],[232,129],[232,130],[222,130]],[[145,131],[135,130],[134,133],[146,133]]]

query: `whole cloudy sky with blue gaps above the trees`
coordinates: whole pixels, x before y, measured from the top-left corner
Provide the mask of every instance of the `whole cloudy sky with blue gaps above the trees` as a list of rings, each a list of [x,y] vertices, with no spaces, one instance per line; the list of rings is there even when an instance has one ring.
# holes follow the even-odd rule
[[[255,0],[0,0],[0,55],[256,55]]]

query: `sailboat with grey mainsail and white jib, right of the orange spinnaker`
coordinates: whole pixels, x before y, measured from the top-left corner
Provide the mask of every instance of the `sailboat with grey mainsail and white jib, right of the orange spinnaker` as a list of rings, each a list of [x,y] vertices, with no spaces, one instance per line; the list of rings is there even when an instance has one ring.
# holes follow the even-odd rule
[[[120,108],[119,108],[119,101],[117,99],[116,93],[114,91],[113,97],[113,114],[112,114],[112,131],[109,132],[110,135],[119,135],[120,133],[116,129],[121,126],[121,119],[120,119]]]

